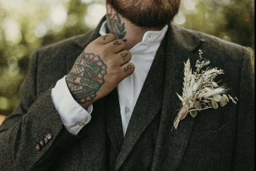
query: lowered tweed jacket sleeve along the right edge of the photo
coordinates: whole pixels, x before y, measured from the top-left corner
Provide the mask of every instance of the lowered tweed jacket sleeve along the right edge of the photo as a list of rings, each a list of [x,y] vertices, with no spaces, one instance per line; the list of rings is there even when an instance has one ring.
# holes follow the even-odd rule
[[[254,70],[244,48],[232,170],[254,170]]]

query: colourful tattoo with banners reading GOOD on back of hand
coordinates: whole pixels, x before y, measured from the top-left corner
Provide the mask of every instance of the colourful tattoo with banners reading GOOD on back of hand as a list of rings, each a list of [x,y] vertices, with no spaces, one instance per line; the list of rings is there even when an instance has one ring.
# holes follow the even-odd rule
[[[84,53],[76,59],[66,81],[73,98],[84,104],[96,97],[96,92],[104,84],[107,66],[94,53]]]

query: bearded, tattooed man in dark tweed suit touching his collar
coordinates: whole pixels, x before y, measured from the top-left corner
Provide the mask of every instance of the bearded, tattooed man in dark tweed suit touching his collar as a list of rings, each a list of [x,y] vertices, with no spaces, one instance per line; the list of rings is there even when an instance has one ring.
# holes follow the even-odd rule
[[[179,5],[107,0],[95,30],[35,51],[0,126],[1,170],[253,170],[250,53],[171,24]],[[239,102],[171,131],[183,62],[195,64],[199,49]]]

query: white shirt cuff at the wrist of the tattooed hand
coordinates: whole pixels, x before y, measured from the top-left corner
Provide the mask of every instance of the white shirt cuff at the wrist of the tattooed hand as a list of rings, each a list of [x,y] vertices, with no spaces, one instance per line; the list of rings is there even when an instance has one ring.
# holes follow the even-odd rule
[[[66,76],[57,81],[51,97],[63,125],[71,134],[77,135],[84,125],[90,122],[93,105],[85,110],[74,100],[68,89]]]

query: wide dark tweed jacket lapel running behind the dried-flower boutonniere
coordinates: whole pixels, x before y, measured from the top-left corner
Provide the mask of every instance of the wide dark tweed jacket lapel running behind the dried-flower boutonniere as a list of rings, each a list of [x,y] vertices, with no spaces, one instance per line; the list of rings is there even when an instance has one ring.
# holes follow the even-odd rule
[[[204,40],[174,25],[169,27],[168,40],[165,91],[152,170],[176,170],[179,167],[194,125],[194,118],[188,115],[179,123],[177,130],[171,131],[181,105],[176,92],[182,95],[183,62],[189,58],[193,67],[198,59],[196,48]]]

